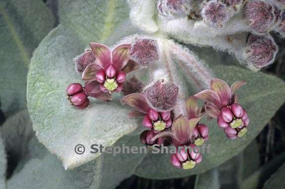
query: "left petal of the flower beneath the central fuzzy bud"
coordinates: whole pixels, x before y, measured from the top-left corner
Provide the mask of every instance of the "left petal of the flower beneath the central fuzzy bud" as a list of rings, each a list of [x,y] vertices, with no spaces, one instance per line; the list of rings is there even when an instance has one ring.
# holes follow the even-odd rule
[[[132,106],[133,108],[142,113],[147,114],[147,110],[149,107],[147,105],[144,95],[141,93],[133,93],[126,95],[125,97],[123,97],[122,102]]]

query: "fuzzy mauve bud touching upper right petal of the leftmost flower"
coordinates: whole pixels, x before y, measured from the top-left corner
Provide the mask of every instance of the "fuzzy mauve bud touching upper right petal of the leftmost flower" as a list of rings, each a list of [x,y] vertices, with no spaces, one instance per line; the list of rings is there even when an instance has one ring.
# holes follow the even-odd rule
[[[136,63],[146,66],[159,59],[158,44],[155,40],[136,39],[131,46],[130,56]]]

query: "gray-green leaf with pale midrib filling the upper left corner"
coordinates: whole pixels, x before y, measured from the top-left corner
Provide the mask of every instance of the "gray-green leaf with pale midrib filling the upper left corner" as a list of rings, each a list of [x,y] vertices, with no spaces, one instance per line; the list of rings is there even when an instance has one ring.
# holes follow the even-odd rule
[[[42,0],[0,1],[0,97],[6,115],[26,107],[30,57],[53,24]]]

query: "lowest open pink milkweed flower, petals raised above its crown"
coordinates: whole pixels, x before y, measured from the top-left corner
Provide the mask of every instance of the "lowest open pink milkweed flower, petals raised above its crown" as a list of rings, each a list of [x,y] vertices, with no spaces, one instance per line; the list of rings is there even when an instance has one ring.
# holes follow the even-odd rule
[[[200,118],[187,119],[185,116],[180,115],[173,121],[170,129],[158,133],[152,138],[151,141],[167,138],[174,146],[180,147],[181,150],[177,150],[171,156],[170,161],[174,167],[192,169],[197,163],[202,161],[201,154],[190,150],[194,147],[194,144],[192,144],[193,130],[199,121]]]

